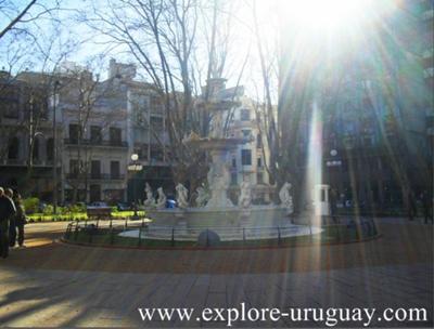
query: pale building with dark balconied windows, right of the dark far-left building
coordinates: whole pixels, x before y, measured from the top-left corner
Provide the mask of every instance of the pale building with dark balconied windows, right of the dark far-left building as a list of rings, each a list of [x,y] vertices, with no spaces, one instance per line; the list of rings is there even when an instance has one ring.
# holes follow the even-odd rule
[[[115,79],[97,81],[86,70],[60,75],[63,126],[62,192],[65,201],[126,199],[127,107]]]

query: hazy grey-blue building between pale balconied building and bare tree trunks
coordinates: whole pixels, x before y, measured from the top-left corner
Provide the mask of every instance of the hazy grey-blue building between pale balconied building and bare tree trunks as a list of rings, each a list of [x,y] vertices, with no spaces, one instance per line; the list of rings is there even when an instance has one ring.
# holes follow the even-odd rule
[[[161,93],[151,83],[137,81],[136,67],[110,61],[108,80],[117,90],[117,104],[126,109],[127,164],[137,154],[142,166],[139,172],[128,174],[126,199],[144,199],[145,183],[153,189],[174,187],[169,167],[169,137]]]

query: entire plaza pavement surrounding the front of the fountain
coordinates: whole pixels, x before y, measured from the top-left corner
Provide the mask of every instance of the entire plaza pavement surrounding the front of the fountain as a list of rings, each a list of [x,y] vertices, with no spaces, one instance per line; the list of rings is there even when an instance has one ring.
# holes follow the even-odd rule
[[[433,327],[433,226],[378,220],[383,236],[348,245],[259,250],[124,250],[53,241],[65,223],[27,226],[0,260],[0,326],[225,327],[141,321],[138,307],[424,307]],[[324,327],[323,323],[238,323]],[[341,324],[347,327],[348,324]],[[361,324],[357,325],[361,327]]]

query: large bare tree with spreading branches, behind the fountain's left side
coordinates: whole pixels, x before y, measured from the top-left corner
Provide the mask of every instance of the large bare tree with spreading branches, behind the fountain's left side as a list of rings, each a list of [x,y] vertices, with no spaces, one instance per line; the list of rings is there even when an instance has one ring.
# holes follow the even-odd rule
[[[175,180],[192,185],[206,176],[206,159],[182,140],[190,132],[204,136],[208,131],[208,108],[204,102],[197,105],[194,92],[200,91],[197,84],[206,83],[197,81],[200,77],[215,78],[225,68],[228,41],[225,32],[218,31],[219,19],[226,19],[220,2],[207,5],[200,0],[108,0],[104,10],[93,8],[91,15],[81,16],[93,30],[108,37],[111,47],[126,49],[152,81],[164,100],[170,140],[166,157],[174,164]],[[201,18],[209,19],[210,25]],[[204,26],[210,28],[205,30]],[[199,62],[202,65],[197,66]],[[205,74],[200,71],[203,63],[207,63]],[[203,93],[205,101],[208,93]]]

